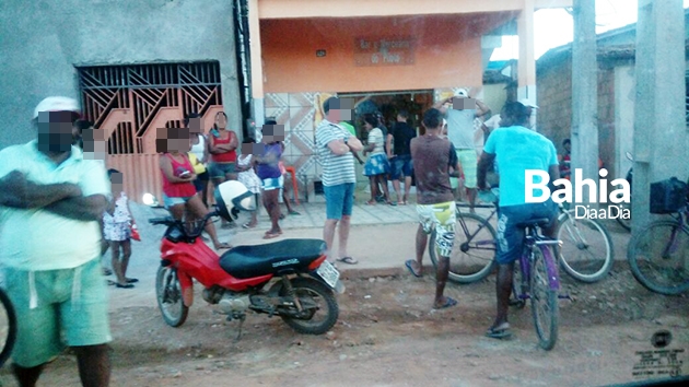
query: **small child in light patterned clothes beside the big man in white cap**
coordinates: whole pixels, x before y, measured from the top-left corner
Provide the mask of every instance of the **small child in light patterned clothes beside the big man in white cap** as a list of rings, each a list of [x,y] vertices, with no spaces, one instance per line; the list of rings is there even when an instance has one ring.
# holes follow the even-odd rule
[[[127,266],[131,256],[131,211],[129,210],[129,200],[122,190],[122,174],[117,169],[108,169],[108,177],[113,187],[113,199],[107,207],[107,211],[103,214],[103,233],[105,239],[110,245],[113,251],[113,271],[117,275],[115,285],[122,289],[133,288],[135,282],[139,282],[136,278],[127,278]],[[120,259],[119,248],[121,246],[122,255]]]

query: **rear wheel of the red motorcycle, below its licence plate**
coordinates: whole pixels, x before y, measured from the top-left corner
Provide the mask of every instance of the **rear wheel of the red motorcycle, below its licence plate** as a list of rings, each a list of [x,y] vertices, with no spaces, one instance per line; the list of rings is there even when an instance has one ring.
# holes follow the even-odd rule
[[[293,294],[288,294],[283,286],[280,296],[299,300],[302,310],[296,305],[283,307],[280,317],[295,331],[303,335],[323,335],[330,330],[339,316],[339,306],[332,291],[311,278],[290,280]]]

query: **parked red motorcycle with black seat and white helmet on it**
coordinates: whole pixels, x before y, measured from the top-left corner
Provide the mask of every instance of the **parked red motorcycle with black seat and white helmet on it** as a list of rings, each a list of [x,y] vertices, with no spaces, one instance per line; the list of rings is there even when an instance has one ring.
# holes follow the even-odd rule
[[[152,196],[144,199],[154,204]],[[242,322],[247,310],[280,316],[300,333],[323,335],[337,321],[335,292],[344,286],[339,271],[326,260],[320,239],[284,239],[257,246],[237,246],[218,256],[201,241],[203,224],[212,216],[235,221],[240,210],[252,211],[254,195],[238,181],[215,190],[215,210],[191,231],[173,218],[150,219],[167,226],[161,243],[161,267],[155,279],[157,305],[172,327],[184,324],[194,302],[194,281],[203,285],[203,300],[219,305],[227,320]]]

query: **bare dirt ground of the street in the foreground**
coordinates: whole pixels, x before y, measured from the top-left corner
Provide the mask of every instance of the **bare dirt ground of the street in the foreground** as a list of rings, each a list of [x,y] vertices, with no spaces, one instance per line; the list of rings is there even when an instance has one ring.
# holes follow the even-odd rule
[[[441,312],[430,307],[432,275],[346,285],[338,324],[317,337],[250,314],[235,341],[237,322],[200,296],[180,328],[164,325],[155,307],[119,309],[112,314],[112,385],[593,386],[639,380],[637,351],[653,351],[661,329],[673,335],[666,349],[689,349],[687,297],[646,291],[624,262],[597,284],[564,279],[573,300],[560,302],[560,338],[550,352],[537,345],[529,306],[511,309],[511,340],[483,337],[494,314],[494,275],[449,284],[446,294],[459,305]],[[687,353],[678,359],[688,363]],[[0,385],[14,386],[7,366]],[[74,357],[58,359],[39,385],[79,385]]]

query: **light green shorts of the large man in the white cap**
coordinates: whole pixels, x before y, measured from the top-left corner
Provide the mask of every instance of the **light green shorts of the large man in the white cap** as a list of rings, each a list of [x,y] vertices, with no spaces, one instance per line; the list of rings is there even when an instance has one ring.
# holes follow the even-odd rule
[[[15,364],[35,367],[57,357],[67,345],[112,341],[101,270],[101,259],[73,269],[4,269],[5,290],[19,322],[12,351]]]

